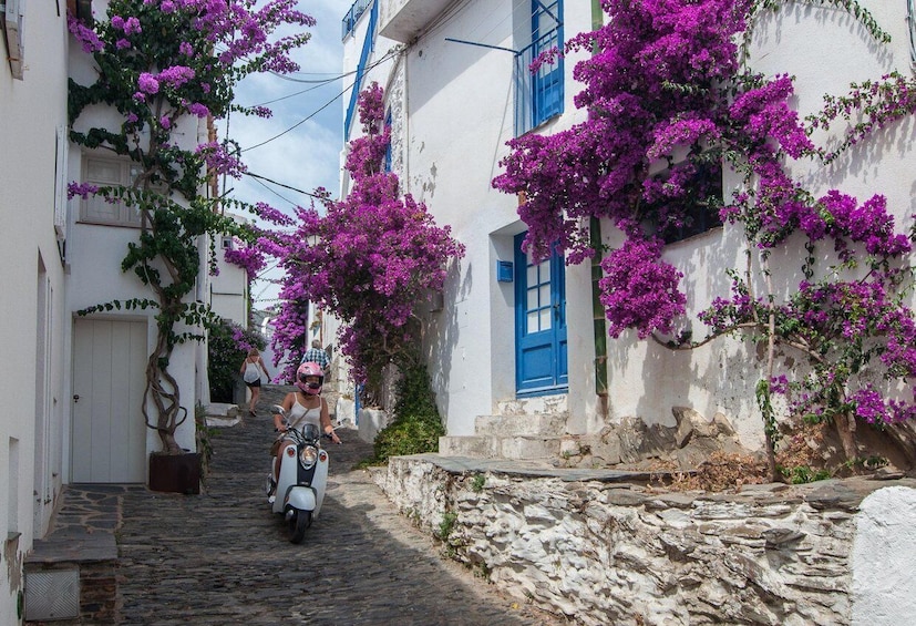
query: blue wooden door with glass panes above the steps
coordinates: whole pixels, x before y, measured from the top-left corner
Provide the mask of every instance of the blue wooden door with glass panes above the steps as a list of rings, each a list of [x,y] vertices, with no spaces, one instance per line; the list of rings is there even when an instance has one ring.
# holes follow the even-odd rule
[[[534,263],[515,237],[515,372],[519,396],[565,391],[566,289],[563,256]]]

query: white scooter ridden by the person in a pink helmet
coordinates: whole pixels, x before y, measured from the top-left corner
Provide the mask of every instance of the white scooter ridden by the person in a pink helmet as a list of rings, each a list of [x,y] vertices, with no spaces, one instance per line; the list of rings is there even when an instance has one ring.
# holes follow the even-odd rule
[[[286,411],[274,407],[286,423]],[[282,513],[289,528],[289,541],[301,543],[306,530],[321,511],[325,486],[328,482],[328,453],[321,449],[321,430],[311,423],[301,429],[289,429],[281,435],[289,440],[277,454],[280,458],[280,475],[270,459],[267,476],[268,502],[274,513]]]

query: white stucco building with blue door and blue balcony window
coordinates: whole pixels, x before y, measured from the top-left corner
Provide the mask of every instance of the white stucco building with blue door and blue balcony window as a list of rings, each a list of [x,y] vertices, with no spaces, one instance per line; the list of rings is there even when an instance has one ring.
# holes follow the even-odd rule
[[[820,110],[823,94],[845,93],[851,82],[912,72],[907,2],[862,4],[891,35],[885,49],[852,17],[831,8],[790,3],[754,24],[751,66],[796,76],[800,116]],[[744,445],[763,445],[754,400],[759,369],[748,345],[720,339],[672,352],[625,332],[607,338],[605,351],[595,339],[593,268],[566,267],[558,258],[532,266],[519,249],[526,227],[517,198],[491,186],[502,173],[506,141],[556,133],[585,116],[573,103],[583,86],[573,80],[579,58],[568,55],[532,78],[532,52],[593,30],[594,20],[603,19],[597,1],[359,0],[343,20],[344,72],[354,72],[357,89],[378,82],[385,90],[390,167],[401,191],[424,202],[436,223],[451,225],[466,246],[442,307],[433,307],[425,326],[433,389],[450,435],[441,452],[452,437],[481,434],[482,418],[502,417],[507,425],[554,414],[562,417],[555,434],[577,435],[627,418],[672,427],[678,407],[710,421],[724,415]],[[360,133],[352,92],[344,107],[350,141]],[[885,194],[904,230],[913,224],[912,136],[907,119],[874,137],[869,151],[851,151],[830,173],[799,175],[815,194],[834,187],[861,201]],[[727,194],[730,184],[725,176]],[[349,185],[344,176],[342,196]],[[619,246],[619,232],[601,226],[604,243]],[[741,234],[728,226],[667,246],[665,259],[686,275],[694,338],[706,335],[696,314],[728,293],[723,269],[742,267],[743,255]],[[549,455],[557,449],[531,452]]]

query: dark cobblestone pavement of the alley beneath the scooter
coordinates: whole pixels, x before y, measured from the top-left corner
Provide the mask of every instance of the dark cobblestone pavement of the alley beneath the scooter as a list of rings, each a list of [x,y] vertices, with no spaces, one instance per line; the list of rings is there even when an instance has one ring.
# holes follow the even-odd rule
[[[354,430],[327,447],[320,517],[300,545],[268,509],[263,484],[274,437],[268,386],[258,417],[217,429],[206,493],[126,490],[119,544],[123,624],[545,625],[414,528],[364,470]],[[565,622],[565,620],[563,620]]]

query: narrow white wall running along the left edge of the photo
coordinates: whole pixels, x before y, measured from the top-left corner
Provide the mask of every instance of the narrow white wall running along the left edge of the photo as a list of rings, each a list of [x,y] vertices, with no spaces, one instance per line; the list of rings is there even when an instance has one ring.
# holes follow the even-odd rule
[[[66,124],[66,28],[25,4],[23,78],[0,37],[0,623],[16,624],[22,558],[61,488],[64,267],[54,233],[55,133]],[[44,294],[44,295],[42,295]]]

